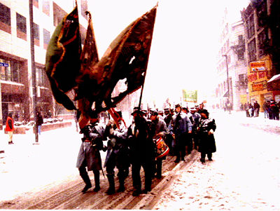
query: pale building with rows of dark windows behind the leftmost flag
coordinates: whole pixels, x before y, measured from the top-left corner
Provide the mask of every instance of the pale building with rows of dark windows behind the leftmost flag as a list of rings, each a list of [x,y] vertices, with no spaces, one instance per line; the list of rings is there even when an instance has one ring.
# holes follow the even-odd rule
[[[45,75],[45,53],[57,24],[70,13],[75,1],[0,0],[0,125],[13,112],[15,120],[33,118],[33,95],[36,91],[36,107],[44,115],[71,114],[55,103]],[[87,0],[78,0],[80,34],[82,43],[87,28]],[[30,11],[33,11],[34,60],[36,88],[32,85]],[[62,111],[63,110],[63,111]]]

